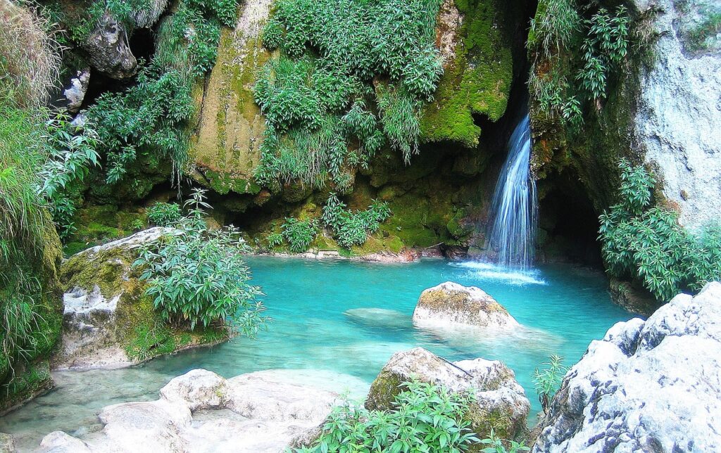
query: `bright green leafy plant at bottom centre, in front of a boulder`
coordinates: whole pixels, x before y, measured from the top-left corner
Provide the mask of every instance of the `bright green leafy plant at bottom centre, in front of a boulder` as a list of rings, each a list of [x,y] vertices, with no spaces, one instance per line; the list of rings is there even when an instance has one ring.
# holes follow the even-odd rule
[[[464,420],[473,395],[405,382],[394,411],[348,402],[334,408],[320,438],[296,452],[465,452],[478,439]]]

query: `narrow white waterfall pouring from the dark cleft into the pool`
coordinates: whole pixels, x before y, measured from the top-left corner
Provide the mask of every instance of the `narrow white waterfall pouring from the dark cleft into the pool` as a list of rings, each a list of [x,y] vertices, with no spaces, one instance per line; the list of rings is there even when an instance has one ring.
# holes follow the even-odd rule
[[[538,198],[530,158],[531,127],[526,115],[508,140],[508,158],[493,194],[490,236],[490,250],[498,263],[521,269],[531,267],[536,247]]]

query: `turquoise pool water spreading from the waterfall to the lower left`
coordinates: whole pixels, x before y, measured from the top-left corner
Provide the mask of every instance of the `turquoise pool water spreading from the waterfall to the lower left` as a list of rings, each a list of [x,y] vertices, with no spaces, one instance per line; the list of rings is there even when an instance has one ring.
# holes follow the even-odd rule
[[[394,352],[414,346],[449,360],[502,360],[516,372],[535,413],[540,407],[531,373],[537,364],[550,354],[575,363],[591,340],[632,317],[611,303],[603,274],[571,266],[520,274],[441,260],[370,264],[253,257],[249,262],[255,283],[267,295],[267,315],[274,319],[256,340],[236,338],[131,369],[56,373],[58,388],[0,418],[0,432],[14,434],[21,449],[37,446],[51,431],[81,435],[99,428],[103,406],[156,399],[160,387],[193,368],[225,377],[263,369],[324,370],[287,374],[301,382],[330,382],[337,391],[359,396]],[[413,327],[420,292],[448,280],[481,287],[526,329],[513,336],[478,336]],[[368,308],[392,311],[363,310]]]

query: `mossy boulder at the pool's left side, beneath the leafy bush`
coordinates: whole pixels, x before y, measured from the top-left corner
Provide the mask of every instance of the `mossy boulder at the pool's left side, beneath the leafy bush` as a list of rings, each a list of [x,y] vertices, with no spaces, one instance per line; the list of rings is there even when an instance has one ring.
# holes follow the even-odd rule
[[[147,284],[133,268],[139,249],[172,228],[150,228],[71,256],[61,268],[65,289],[56,368],[118,367],[229,338],[226,328],[169,326],[156,313]]]

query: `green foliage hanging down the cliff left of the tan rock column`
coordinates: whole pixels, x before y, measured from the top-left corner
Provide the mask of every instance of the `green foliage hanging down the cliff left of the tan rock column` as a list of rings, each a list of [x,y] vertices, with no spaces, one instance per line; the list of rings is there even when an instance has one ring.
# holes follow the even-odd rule
[[[123,14],[142,12],[146,1],[121,1],[130,7]],[[103,94],[89,109],[107,156],[108,184],[123,179],[138,153],[169,158],[180,177],[187,162],[187,122],[195,109],[193,83],[213,67],[221,25],[234,24],[236,7],[236,0],[179,1],[160,24],[156,53],[136,85]]]

